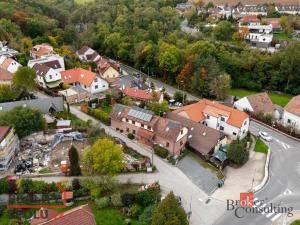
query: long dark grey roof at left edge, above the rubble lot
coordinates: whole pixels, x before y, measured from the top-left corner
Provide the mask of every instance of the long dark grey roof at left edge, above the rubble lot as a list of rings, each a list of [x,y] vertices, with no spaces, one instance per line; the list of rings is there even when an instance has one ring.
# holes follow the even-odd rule
[[[64,100],[63,97],[54,98],[43,98],[43,99],[32,99],[15,102],[0,103],[0,112],[6,112],[18,106],[36,108],[43,114],[49,113],[50,110],[56,112],[64,111]]]

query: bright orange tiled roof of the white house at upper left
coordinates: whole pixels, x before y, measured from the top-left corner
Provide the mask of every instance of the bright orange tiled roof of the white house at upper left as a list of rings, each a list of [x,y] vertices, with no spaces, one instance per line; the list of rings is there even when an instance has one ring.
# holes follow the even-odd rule
[[[95,78],[95,73],[82,68],[74,68],[61,72],[61,79],[67,84],[79,82],[81,84],[90,86]]]

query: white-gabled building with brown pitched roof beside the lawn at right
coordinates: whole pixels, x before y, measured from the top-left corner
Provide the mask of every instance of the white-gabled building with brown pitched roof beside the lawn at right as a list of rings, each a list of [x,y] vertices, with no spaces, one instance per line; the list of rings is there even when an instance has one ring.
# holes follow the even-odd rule
[[[240,111],[249,111],[254,114],[274,114],[275,106],[266,92],[257,93],[239,99],[234,107]]]

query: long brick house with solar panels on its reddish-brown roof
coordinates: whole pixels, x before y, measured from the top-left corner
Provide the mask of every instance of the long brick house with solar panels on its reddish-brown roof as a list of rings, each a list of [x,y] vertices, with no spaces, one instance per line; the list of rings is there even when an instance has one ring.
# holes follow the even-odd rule
[[[184,149],[188,129],[181,123],[156,116],[152,111],[139,107],[116,104],[110,115],[111,126],[131,133],[147,145],[159,144],[176,156]]]

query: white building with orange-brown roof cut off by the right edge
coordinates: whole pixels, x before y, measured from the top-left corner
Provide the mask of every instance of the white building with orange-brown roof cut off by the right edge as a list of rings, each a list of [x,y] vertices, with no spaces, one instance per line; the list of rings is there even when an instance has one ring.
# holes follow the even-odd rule
[[[284,107],[282,122],[286,126],[300,129],[300,95],[293,97]]]

